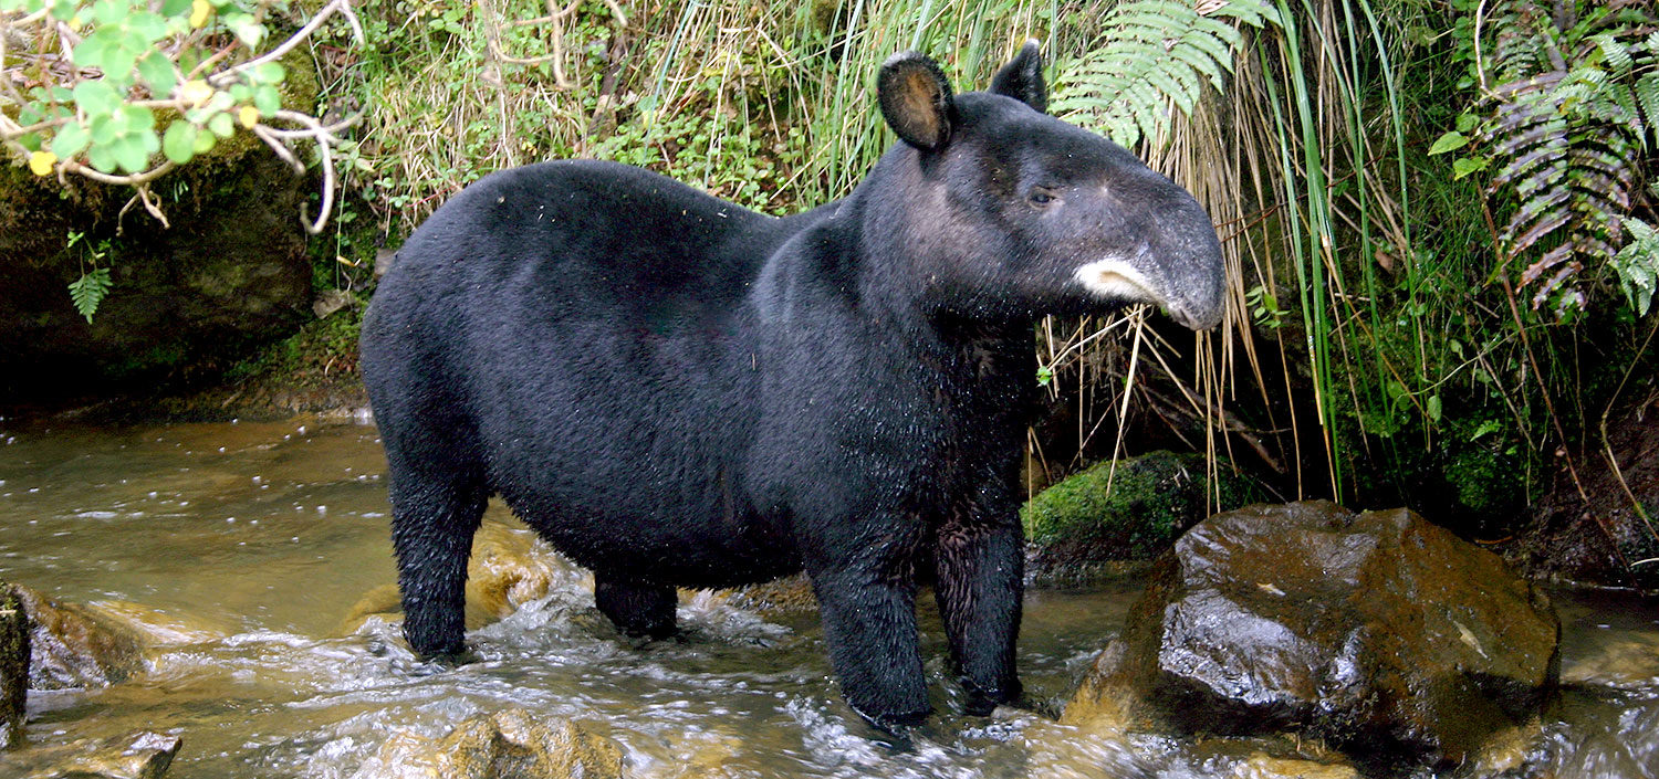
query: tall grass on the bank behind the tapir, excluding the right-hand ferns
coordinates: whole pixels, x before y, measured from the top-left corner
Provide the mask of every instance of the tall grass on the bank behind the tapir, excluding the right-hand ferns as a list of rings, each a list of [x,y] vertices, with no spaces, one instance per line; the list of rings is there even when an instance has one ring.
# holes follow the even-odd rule
[[[1035,469],[1168,444],[1267,474],[1284,497],[1410,502],[1430,482],[1455,491],[1443,482],[1468,452],[1546,461],[1569,433],[1541,428],[1538,388],[1578,396],[1578,345],[1564,325],[1511,317],[1493,229],[1472,207],[1485,192],[1423,154],[1460,109],[1443,76],[1460,65],[1412,30],[1445,18],[1404,0],[1228,5],[1140,2],[1236,35],[1218,38],[1219,88],[1163,101],[1133,141],[1209,209],[1226,325],[1193,336],[1145,312],[1044,322],[1052,408],[1032,434]],[[387,235],[484,172],[552,157],[640,164],[781,214],[844,196],[891,143],[871,81],[894,51],[927,51],[971,90],[1039,38],[1065,98],[1120,31],[1117,7],[368,0],[370,48],[320,60],[340,109],[367,109],[350,176]]]

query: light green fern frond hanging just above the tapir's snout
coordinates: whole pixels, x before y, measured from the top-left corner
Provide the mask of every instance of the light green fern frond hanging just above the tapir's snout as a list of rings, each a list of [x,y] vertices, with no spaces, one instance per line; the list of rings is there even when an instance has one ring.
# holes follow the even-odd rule
[[[1244,40],[1239,23],[1277,17],[1254,0],[1206,3],[1203,12],[1191,2],[1123,2],[1100,20],[1107,33],[1090,53],[1062,68],[1050,108],[1123,146],[1155,138],[1170,104],[1191,114],[1204,85],[1224,88]]]

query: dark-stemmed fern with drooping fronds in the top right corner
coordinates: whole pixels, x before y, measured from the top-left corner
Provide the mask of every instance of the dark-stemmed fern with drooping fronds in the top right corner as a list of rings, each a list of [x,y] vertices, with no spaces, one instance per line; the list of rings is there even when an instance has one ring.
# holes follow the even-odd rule
[[[1584,269],[1636,267],[1619,264],[1618,245],[1632,224],[1636,161],[1659,128],[1656,22],[1627,3],[1495,5],[1490,191],[1516,201],[1498,242],[1505,264],[1521,269],[1535,310],[1550,302],[1558,317],[1584,308]],[[1646,313],[1629,287],[1626,298]]]

